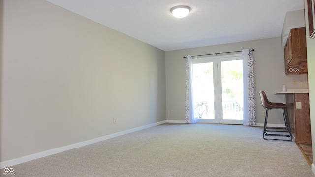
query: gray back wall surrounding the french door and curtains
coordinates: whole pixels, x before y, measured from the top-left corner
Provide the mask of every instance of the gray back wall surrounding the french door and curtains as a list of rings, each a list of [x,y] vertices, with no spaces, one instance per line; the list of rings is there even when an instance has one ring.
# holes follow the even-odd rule
[[[185,50],[166,52],[166,109],[168,121],[185,121],[185,59],[186,55],[211,54],[228,51],[240,51],[254,49],[254,74],[255,74],[255,101],[256,123],[263,124],[264,109],[261,106],[259,91],[265,91],[267,97],[273,102],[285,103],[284,95],[273,94],[282,90],[282,85],[287,89],[307,88],[307,75],[286,76],[284,74],[284,48],[281,47],[281,39],[270,38],[247,42],[231,43],[217,46],[199,47]],[[296,79],[296,84],[292,84]],[[300,82],[305,85],[300,86]],[[174,114],[171,114],[174,110]],[[278,116],[281,111],[272,110],[271,115]],[[280,115],[281,116],[281,115]],[[281,119],[282,120],[282,119]],[[283,121],[270,119],[269,123],[282,124]]]

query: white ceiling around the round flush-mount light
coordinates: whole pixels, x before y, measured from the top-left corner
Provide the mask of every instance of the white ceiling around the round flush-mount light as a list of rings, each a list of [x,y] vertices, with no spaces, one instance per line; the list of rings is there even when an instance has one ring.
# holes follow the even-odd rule
[[[164,51],[280,37],[304,0],[47,0]],[[174,17],[176,5],[191,7]]]

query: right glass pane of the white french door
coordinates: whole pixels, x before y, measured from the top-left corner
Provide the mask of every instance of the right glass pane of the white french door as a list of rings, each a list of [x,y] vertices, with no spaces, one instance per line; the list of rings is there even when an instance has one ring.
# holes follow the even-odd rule
[[[243,120],[243,62],[221,61],[222,118]]]

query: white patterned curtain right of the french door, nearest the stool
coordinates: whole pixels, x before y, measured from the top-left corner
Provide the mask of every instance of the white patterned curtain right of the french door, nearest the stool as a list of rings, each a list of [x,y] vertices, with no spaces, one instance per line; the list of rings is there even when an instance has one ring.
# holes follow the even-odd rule
[[[255,126],[254,59],[251,49],[243,50],[244,118],[243,125]]]

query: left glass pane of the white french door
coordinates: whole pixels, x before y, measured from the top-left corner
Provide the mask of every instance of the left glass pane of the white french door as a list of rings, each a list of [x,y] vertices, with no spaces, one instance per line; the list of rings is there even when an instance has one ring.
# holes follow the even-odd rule
[[[198,119],[215,119],[213,63],[196,63],[193,70],[193,101]]]

